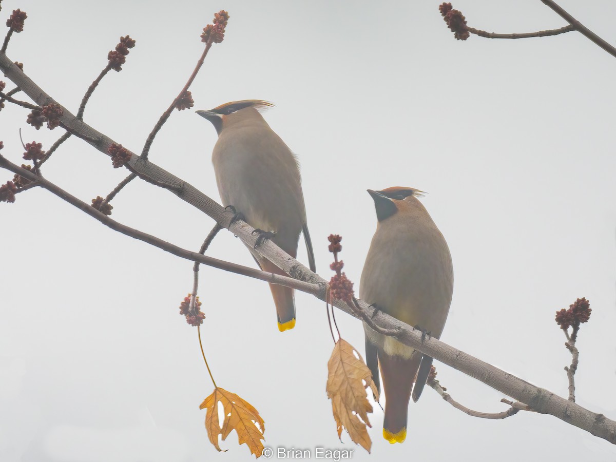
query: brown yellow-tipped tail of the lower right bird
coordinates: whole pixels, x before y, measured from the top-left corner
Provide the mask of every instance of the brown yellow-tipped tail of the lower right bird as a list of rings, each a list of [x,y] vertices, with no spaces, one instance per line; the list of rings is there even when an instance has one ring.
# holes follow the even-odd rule
[[[406,359],[389,356],[379,349],[378,355],[386,399],[383,437],[391,444],[402,443],[407,437],[408,401],[421,353],[415,351]]]

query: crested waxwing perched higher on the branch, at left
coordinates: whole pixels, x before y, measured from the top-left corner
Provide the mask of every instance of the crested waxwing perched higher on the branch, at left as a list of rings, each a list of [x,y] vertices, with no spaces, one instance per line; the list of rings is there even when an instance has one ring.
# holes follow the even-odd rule
[[[316,271],[306,206],[296,156],[270,128],[260,110],[273,106],[263,100],[241,100],[209,111],[196,111],[218,134],[212,152],[216,184],[225,207],[241,217],[278,247],[296,257],[299,235],[304,234],[309,266]],[[258,244],[257,244],[258,245]],[[286,275],[275,264],[249,250],[261,270]],[[293,329],[296,322],[294,290],[270,283],[278,329]]]

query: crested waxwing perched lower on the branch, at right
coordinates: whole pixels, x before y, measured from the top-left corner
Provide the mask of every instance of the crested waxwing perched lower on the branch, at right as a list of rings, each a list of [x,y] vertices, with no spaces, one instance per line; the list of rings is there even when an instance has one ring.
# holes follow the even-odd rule
[[[359,295],[402,322],[440,338],[453,295],[453,265],[447,242],[408,187],[368,190],[376,208],[376,232],[360,279]],[[383,437],[391,444],[407,436],[408,403],[421,395],[432,358],[363,323],[366,362],[385,392]],[[415,386],[413,381],[416,377]]]

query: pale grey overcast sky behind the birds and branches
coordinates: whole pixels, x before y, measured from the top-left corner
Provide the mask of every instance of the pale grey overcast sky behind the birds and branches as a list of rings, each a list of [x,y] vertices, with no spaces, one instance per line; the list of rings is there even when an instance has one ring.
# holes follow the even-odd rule
[[[561,0],[614,43],[610,1]],[[84,6],[87,4],[87,7]],[[184,85],[214,12],[229,11],[192,86],[193,109],[265,99],[272,128],[299,156],[318,272],[329,277],[326,237],[359,289],[376,217],[367,188],[410,186],[450,246],[455,288],[442,340],[567,396],[570,355],[554,312],[591,302],[580,332],[577,402],[616,418],[614,75],[616,59],[578,33],[526,40],[455,41],[438,1],[4,0],[28,13],[7,54],[73,112],[121,35],[137,46],[103,79],[85,120],[140,152]],[[454,2],[469,25],[528,32],[565,25],[539,0]],[[4,32],[2,32],[4,33]],[[7,88],[12,88],[7,84]],[[8,106],[8,105],[7,105]],[[2,154],[22,163],[24,142],[49,148],[60,129],[35,131],[27,111],[0,114]],[[175,112],[150,159],[218,200],[216,133],[192,110]],[[78,139],[45,176],[90,201],[126,175]],[[12,177],[3,172],[2,182]],[[190,249],[213,226],[171,193],[135,181],[112,217]],[[249,460],[235,432],[217,453],[201,401],[213,385],[197,331],[178,315],[192,264],[100,225],[44,190],[0,205],[0,455],[6,461],[188,462]],[[209,255],[253,265],[228,232]],[[307,262],[301,249],[299,259]],[[616,460],[616,449],[551,416],[471,418],[431,390],[411,403],[402,445],[373,454],[338,440],[325,394],[333,347],[325,306],[296,296],[298,323],[278,333],[267,285],[202,267],[202,336],[219,386],[265,419],[265,445],[354,449],[362,460]],[[338,315],[363,353],[360,322]],[[500,392],[437,363],[453,397],[501,411]]]

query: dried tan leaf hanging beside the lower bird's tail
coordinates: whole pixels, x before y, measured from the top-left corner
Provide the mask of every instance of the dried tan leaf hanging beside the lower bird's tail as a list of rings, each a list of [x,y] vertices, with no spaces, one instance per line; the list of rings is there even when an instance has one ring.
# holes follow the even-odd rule
[[[378,397],[370,369],[363,362],[362,355],[344,339],[336,342],[327,369],[326,390],[331,399],[338,437],[344,426],[353,442],[370,452],[372,441],[366,426],[371,427],[368,412],[372,412],[372,406],[366,397],[366,388],[370,386]]]

